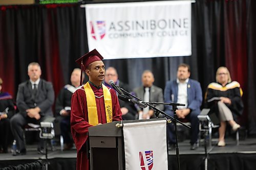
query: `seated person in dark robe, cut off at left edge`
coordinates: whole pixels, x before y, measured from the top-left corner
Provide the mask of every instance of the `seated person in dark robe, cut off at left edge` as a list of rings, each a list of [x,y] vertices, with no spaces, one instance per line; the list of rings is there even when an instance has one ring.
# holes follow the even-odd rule
[[[2,92],[3,80],[0,78],[0,152],[7,153],[11,144],[12,133],[10,118],[14,114],[12,96],[8,92]]]

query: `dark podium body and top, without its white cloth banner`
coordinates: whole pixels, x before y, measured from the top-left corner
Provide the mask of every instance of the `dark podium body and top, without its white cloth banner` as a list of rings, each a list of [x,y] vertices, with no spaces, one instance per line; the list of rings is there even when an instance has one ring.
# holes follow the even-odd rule
[[[125,169],[122,128],[116,124],[149,122],[165,118],[123,120],[89,128],[91,170]]]

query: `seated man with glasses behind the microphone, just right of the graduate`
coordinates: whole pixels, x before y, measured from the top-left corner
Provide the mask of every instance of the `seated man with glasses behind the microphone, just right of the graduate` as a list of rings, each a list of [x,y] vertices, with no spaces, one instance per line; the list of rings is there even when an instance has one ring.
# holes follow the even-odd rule
[[[104,85],[112,88],[112,86],[109,85],[110,80],[113,80],[119,87],[123,88],[124,90],[126,90],[128,92],[131,91],[130,87],[127,84],[119,81],[117,70],[114,67],[108,67],[108,69],[106,69],[106,71],[105,71],[105,77],[104,77]],[[130,102],[124,102],[120,99],[118,99],[118,102],[119,102],[121,112],[122,112],[122,119],[123,120],[134,120],[136,117],[136,114],[137,114],[134,104],[132,104]]]

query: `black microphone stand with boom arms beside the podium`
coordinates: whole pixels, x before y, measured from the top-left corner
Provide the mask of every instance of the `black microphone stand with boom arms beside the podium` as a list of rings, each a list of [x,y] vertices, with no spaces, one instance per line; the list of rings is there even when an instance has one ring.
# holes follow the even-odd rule
[[[131,95],[133,98],[142,101],[141,99],[137,98],[135,95],[125,91],[124,89],[120,88],[124,93]],[[143,102],[143,101],[142,101]],[[179,120],[177,120],[177,115],[176,115],[176,110],[178,109],[177,106],[185,106],[184,104],[179,104],[179,103],[158,103],[158,102],[144,102],[147,104],[147,106],[151,107],[152,109],[155,110],[155,114],[156,117],[158,117],[159,113],[162,113],[163,115],[165,115],[166,117],[172,119],[174,121],[174,125],[175,125],[175,137],[176,137],[176,158],[177,158],[177,167],[178,170],[180,170],[180,153],[179,153],[179,146],[178,146],[178,133],[177,133],[177,122],[180,123],[181,125],[183,125],[186,128],[189,128],[189,126],[183,124],[182,122],[180,122]],[[174,112],[174,118],[168,114],[166,114],[165,112],[159,110],[158,108],[156,108],[155,106],[153,106],[152,104],[162,104],[162,105],[170,105],[173,106],[173,112]]]

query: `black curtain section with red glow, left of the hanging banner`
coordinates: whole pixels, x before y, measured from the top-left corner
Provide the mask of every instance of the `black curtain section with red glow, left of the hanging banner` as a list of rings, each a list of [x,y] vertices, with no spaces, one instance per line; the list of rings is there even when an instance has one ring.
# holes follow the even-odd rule
[[[28,79],[30,62],[40,64],[41,77],[57,94],[69,83],[75,59],[88,52],[85,12],[78,4],[2,6],[0,30],[0,76],[13,96]]]

